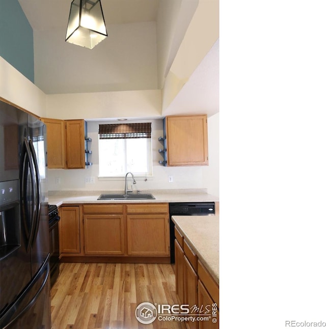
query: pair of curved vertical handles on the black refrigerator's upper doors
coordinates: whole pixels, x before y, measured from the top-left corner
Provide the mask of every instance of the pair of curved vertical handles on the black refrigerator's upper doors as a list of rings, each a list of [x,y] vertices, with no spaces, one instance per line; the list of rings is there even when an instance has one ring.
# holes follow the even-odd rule
[[[28,239],[27,242],[27,251],[31,249],[32,245],[32,239],[35,231],[35,224],[36,224],[36,178],[35,178],[35,171],[33,170],[33,160],[32,160],[32,154],[29,148],[29,144],[24,138],[24,156],[23,156],[23,170],[22,170],[22,182],[21,182],[21,190],[22,190],[22,215],[23,215],[23,223],[25,227],[25,232],[26,232],[26,237]],[[29,205],[28,205],[28,196],[27,196],[27,184],[28,184],[28,172],[30,171],[31,178],[32,178],[32,195],[33,195],[33,209],[32,209],[32,214],[29,214]],[[28,227],[28,218],[30,217],[31,219],[31,227],[29,230]]]

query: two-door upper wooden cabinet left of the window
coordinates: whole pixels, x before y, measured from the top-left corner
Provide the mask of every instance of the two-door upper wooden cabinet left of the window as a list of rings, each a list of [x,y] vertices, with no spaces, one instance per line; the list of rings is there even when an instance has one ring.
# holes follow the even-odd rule
[[[43,118],[48,168],[85,168],[85,121]]]

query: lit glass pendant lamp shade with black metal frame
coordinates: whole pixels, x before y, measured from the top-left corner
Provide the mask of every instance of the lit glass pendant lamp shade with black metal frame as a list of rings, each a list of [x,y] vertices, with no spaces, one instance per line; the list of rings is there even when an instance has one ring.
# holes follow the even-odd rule
[[[73,0],[66,41],[93,49],[107,37],[100,0]]]

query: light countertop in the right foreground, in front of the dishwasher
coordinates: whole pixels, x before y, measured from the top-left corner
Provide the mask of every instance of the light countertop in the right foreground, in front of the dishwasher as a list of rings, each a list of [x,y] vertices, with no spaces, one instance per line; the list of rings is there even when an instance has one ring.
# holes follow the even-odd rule
[[[172,216],[183,238],[213,279],[220,282],[220,219],[216,216]]]

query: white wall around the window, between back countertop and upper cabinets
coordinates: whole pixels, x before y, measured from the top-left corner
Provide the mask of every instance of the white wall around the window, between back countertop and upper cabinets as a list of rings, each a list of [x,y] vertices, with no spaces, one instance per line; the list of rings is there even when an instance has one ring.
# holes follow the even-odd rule
[[[112,123],[112,121],[110,121]],[[130,121],[137,122],[137,121]],[[162,156],[158,149],[162,147],[158,141],[159,136],[163,134],[162,120],[142,120],[142,122],[152,122],[152,157],[153,157],[153,176],[137,178],[136,189],[179,189],[179,188],[207,188],[204,172],[208,170],[203,167],[164,167],[159,165],[158,160]],[[103,123],[103,122],[101,122]],[[216,130],[216,127],[214,127]],[[93,153],[90,160],[93,166],[87,169],[50,169],[48,170],[49,190],[123,190],[124,177],[117,179],[98,179],[98,122],[88,122],[88,135],[92,138],[90,148]],[[215,138],[215,136],[212,136]],[[210,142],[209,142],[210,143]],[[215,143],[214,143],[215,144]],[[211,158],[211,155],[209,155]],[[215,157],[212,152],[212,157]],[[213,161],[213,163],[216,161]],[[168,182],[168,176],[173,176],[173,182]],[[94,184],[86,184],[86,177],[94,177]],[[61,183],[56,184],[56,178],[60,178]],[[216,189],[216,184],[212,184],[211,190]],[[216,194],[215,194],[216,195]]]

